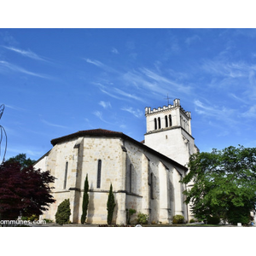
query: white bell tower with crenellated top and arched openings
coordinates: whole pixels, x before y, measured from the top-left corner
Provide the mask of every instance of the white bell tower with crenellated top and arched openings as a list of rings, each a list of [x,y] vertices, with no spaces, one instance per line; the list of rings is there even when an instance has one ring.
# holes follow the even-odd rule
[[[198,151],[191,132],[191,113],[175,99],[167,107],[145,108],[145,116],[145,145],[185,166],[189,156]]]

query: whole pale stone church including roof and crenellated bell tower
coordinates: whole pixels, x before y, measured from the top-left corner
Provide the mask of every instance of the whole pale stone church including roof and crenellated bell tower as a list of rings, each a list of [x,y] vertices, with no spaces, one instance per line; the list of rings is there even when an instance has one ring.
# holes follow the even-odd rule
[[[78,131],[51,140],[53,148],[34,165],[56,177],[51,191],[55,203],[43,218],[55,221],[58,205],[69,199],[70,221],[80,223],[84,180],[88,175],[86,223],[107,224],[107,201],[113,186],[113,224],[127,223],[127,209],[148,214],[149,223],[172,224],[172,217],[189,220],[189,207],[180,178],[189,172],[189,156],[198,148],[191,134],[191,113],[180,100],[163,108],[145,108],[147,131],[143,142],[119,131]]]

